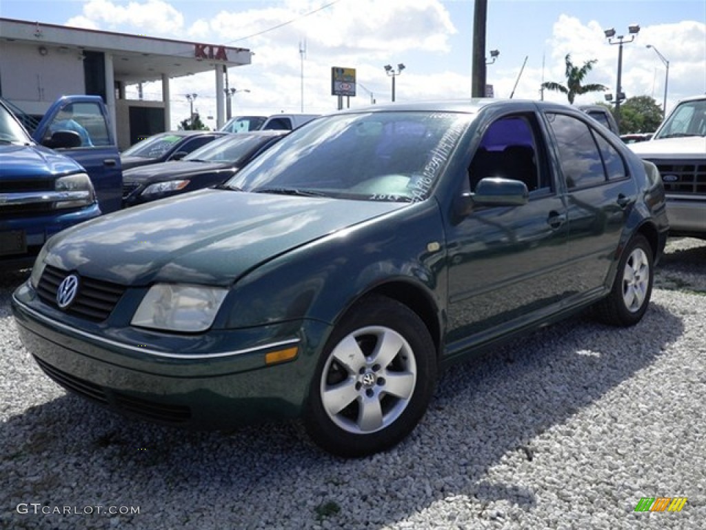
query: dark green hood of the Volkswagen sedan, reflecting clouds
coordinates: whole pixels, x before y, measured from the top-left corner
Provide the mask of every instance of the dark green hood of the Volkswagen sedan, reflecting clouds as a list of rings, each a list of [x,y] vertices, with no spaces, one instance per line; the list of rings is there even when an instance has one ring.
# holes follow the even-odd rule
[[[64,230],[47,264],[124,285],[229,285],[265,261],[405,203],[205,189]]]

